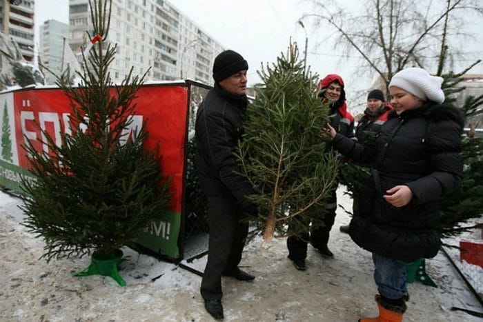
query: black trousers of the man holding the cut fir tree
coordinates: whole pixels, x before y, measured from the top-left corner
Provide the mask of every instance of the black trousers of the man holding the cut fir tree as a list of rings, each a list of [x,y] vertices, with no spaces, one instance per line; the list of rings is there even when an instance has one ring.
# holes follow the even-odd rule
[[[233,195],[207,196],[208,199],[208,262],[201,280],[203,299],[221,299],[221,275],[238,270],[248,235],[248,223]]]

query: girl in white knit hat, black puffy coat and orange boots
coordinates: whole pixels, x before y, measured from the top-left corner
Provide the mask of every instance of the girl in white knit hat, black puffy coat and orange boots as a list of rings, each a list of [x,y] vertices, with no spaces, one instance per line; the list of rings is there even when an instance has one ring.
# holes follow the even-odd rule
[[[372,143],[356,143],[330,125],[321,132],[347,157],[373,163],[349,233],[373,253],[380,316],[359,321],[402,321],[408,263],[440,249],[437,199],[457,186],[463,168],[462,113],[443,103],[441,84],[422,68],[397,72],[389,83],[394,110]]]

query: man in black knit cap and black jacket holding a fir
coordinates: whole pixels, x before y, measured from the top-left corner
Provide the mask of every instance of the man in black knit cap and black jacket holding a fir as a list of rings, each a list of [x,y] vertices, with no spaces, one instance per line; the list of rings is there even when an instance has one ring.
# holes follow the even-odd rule
[[[238,268],[248,234],[246,213],[257,207],[247,196],[255,190],[237,171],[233,155],[242,139],[248,105],[248,63],[233,50],[221,52],[213,64],[215,85],[199,105],[195,125],[197,170],[208,200],[208,261],[201,281],[206,310],[223,319],[221,276],[253,281],[255,276]]]

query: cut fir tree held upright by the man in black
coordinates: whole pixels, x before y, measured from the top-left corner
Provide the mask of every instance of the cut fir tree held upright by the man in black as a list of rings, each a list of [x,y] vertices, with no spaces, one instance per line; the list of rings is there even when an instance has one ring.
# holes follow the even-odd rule
[[[263,85],[248,105],[237,153],[242,174],[257,192],[250,199],[259,214],[250,221],[264,241],[275,233],[301,236],[306,222],[322,225],[337,176],[337,157],[319,137],[328,107],[317,97],[317,75],[304,70],[295,44],[272,66],[262,66],[259,76]]]

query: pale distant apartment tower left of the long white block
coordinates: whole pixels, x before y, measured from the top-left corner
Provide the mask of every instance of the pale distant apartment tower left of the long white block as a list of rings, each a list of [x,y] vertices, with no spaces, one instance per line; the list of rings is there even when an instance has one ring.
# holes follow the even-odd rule
[[[55,75],[60,75],[67,67],[64,54],[66,46],[69,46],[68,24],[57,20],[45,21],[40,27],[39,64],[44,70],[46,83],[54,83]]]

